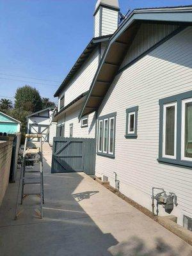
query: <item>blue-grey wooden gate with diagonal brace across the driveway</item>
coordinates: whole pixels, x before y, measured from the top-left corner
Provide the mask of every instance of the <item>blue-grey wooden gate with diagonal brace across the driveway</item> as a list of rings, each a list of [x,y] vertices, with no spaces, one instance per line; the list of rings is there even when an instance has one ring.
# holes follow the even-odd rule
[[[84,172],[95,174],[95,139],[55,137],[51,173]]]

